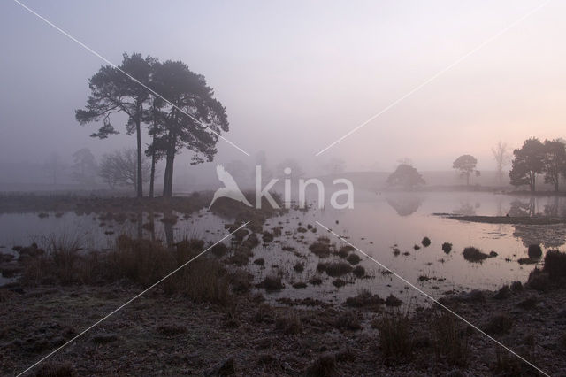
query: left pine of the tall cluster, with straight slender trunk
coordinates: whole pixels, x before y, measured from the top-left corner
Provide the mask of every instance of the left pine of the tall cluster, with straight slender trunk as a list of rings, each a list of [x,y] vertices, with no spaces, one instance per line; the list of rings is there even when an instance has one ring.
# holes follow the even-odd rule
[[[123,55],[119,68],[130,74],[137,81],[149,85],[152,65],[155,58],[142,58],[142,54]],[[142,197],[142,119],[144,105],[149,100],[150,92],[138,82],[111,65],[105,65],[90,78],[88,83],[90,96],[85,109],[75,111],[75,118],[81,125],[103,120],[103,125],[92,137],[105,139],[119,132],[111,124],[111,115],[124,112],[127,115],[126,133],[136,136],[137,142],[137,196]]]

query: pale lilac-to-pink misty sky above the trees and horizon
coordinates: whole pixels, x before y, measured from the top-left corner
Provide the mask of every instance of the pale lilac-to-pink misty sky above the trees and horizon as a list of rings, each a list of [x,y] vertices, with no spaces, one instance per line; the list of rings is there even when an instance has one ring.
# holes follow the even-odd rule
[[[265,150],[273,164],[340,156],[349,170],[392,170],[410,158],[422,170],[449,170],[470,153],[480,169],[493,169],[490,150],[500,139],[516,148],[532,135],[565,136],[566,4],[559,1],[318,158],[542,2],[24,3],[116,64],[125,51],[183,60],[225,104],[226,137],[252,155]],[[74,119],[103,61],[11,0],[0,3],[0,21],[2,161],[134,148],[133,136],[89,138],[96,125]],[[219,142],[218,160],[233,158],[253,162]]]

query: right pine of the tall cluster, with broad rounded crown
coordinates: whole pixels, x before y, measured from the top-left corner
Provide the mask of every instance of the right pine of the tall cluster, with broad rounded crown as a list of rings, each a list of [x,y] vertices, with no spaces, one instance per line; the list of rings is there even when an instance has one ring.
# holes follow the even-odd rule
[[[218,135],[228,131],[228,119],[226,109],[214,98],[203,75],[191,72],[181,61],[156,63],[153,69],[151,87],[170,101],[160,104],[160,123],[153,132],[155,149],[161,150],[165,158],[163,195],[171,197],[177,153],[191,150],[191,165],[212,161]]]

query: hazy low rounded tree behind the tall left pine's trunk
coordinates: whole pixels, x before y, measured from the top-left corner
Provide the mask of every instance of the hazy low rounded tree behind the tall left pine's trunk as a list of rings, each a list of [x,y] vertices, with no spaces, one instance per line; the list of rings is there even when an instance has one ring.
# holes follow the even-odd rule
[[[143,181],[149,181],[151,163],[149,158],[142,157]],[[98,173],[103,181],[112,189],[119,187],[134,188],[137,193],[137,151],[116,150],[105,154],[100,163]]]

